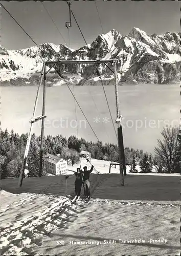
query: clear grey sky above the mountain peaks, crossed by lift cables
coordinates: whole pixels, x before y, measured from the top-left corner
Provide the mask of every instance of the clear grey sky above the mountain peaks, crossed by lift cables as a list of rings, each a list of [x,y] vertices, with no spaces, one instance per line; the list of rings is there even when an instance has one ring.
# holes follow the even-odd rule
[[[69,9],[65,2],[43,2],[51,14],[58,30],[53,24],[41,2],[4,2],[11,15],[39,45],[52,42],[65,44],[73,49],[85,45],[85,42],[72,17],[72,28],[65,28],[69,21]],[[100,25],[99,11],[102,28]],[[72,1],[72,11],[88,44],[101,33],[116,29],[121,34],[128,34],[133,27],[138,27],[148,34],[180,32],[180,3],[173,1]],[[70,35],[70,40],[69,40]],[[34,46],[31,39],[18,27],[9,14],[1,7],[1,45],[9,50],[24,49]]]

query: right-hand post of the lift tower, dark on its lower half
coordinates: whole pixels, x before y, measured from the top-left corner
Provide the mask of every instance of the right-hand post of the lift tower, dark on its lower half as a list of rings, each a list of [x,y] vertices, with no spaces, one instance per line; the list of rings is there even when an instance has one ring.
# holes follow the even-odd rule
[[[119,109],[119,97],[118,97],[118,80],[117,80],[117,69],[116,69],[116,60],[114,61],[114,72],[115,72],[115,94],[116,94],[116,112],[117,118],[120,117],[120,109]],[[121,174],[121,185],[124,186],[124,176],[123,176],[123,133],[121,123],[118,123],[118,146],[119,146],[119,162],[120,162],[120,174]]]

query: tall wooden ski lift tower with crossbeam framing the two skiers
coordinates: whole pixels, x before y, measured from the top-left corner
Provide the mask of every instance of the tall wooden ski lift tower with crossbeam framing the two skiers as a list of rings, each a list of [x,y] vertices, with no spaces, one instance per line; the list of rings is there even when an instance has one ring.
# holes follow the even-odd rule
[[[122,116],[120,116],[120,110],[119,110],[119,97],[118,97],[118,80],[117,80],[117,68],[116,68],[116,60],[110,59],[110,60],[59,60],[59,61],[44,61],[43,67],[41,71],[39,86],[37,90],[36,100],[35,100],[35,106],[33,111],[32,119],[30,120],[31,126],[29,130],[29,136],[27,140],[25,155],[24,155],[24,161],[22,163],[21,172],[19,176],[19,186],[22,186],[22,180],[24,178],[25,174],[25,166],[27,162],[27,157],[29,153],[30,148],[30,141],[32,136],[32,128],[33,123],[41,120],[41,143],[40,143],[40,165],[39,165],[39,173],[38,176],[41,177],[42,175],[42,160],[43,160],[43,136],[44,136],[44,118],[46,118],[45,114],[45,102],[46,102],[46,85],[47,85],[47,74],[49,71],[54,68],[57,74],[64,79],[62,73],[60,72],[60,67],[64,64],[93,64],[93,65],[100,65],[100,64],[113,64],[114,65],[114,74],[115,74],[115,94],[116,94],[116,109],[117,109],[117,118],[116,123],[118,125],[118,145],[119,145],[119,159],[120,159],[120,174],[121,174],[121,185],[124,185],[124,176],[123,176],[123,165],[125,162],[124,159],[124,145],[123,145],[123,132],[122,132],[122,125],[121,125],[121,119]],[[47,71],[47,67],[49,70]],[[38,102],[38,96],[40,91],[40,86],[43,80],[43,102],[42,102],[42,115],[35,117],[37,102]],[[66,82],[66,80],[64,79]],[[68,86],[68,85],[67,85]],[[69,86],[68,86],[69,87]],[[69,88],[70,89],[70,88]],[[71,89],[70,89],[71,91]],[[71,91],[72,93],[72,91]],[[73,93],[72,93],[73,94]]]

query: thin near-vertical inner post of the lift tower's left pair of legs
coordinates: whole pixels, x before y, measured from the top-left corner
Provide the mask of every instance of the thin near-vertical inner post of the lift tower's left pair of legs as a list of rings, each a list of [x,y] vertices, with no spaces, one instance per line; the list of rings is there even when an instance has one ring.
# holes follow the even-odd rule
[[[46,84],[47,84],[47,67],[44,66],[44,76],[43,76],[43,104],[42,104],[42,116],[45,112],[45,101],[46,101]],[[41,144],[40,144],[40,163],[39,163],[39,173],[38,176],[42,176],[42,160],[43,160],[43,137],[44,137],[44,118],[41,121]]]

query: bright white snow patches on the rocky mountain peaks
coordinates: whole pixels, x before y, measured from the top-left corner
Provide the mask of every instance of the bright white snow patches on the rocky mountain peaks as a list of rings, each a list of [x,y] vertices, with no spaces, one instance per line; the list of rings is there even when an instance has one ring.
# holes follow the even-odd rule
[[[117,32],[116,30],[111,30],[106,34],[101,34],[101,40],[102,43],[100,47],[103,47],[103,51],[107,54],[103,56],[103,60],[108,60],[111,58],[111,56],[117,56],[122,57],[123,55],[126,56],[126,61],[124,62],[123,66],[120,68],[120,71],[122,71],[122,75],[125,74],[130,68],[130,66],[134,63],[131,63],[131,59],[134,56],[134,51],[137,48],[139,54],[142,53],[142,56],[144,56],[145,53],[151,54],[152,56],[158,57],[158,60],[162,62],[175,62],[180,60],[180,56],[178,54],[167,54],[164,49],[167,48],[168,51],[172,52],[172,50],[175,51],[178,46],[178,42],[173,40],[172,34],[169,35],[171,38],[171,41],[168,39],[166,35],[156,35],[154,37],[154,40],[152,37],[147,35],[146,32],[140,30],[139,28],[133,28],[128,36],[124,36],[124,43],[123,46],[121,46],[122,40],[119,40],[122,38],[122,35]],[[177,37],[179,35],[177,34]],[[177,38],[178,39],[178,38]],[[144,42],[142,42],[142,40]],[[165,43],[165,46],[163,47],[162,44]],[[63,52],[66,49],[69,49],[71,52],[74,52],[75,50],[72,48],[69,48],[65,45],[55,45],[52,43],[46,43],[42,44],[39,47],[42,47],[44,51],[46,51],[46,46],[48,46],[49,49],[53,49],[56,53],[60,52],[61,49],[63,49]],[[124,50],[124,46],[129,48],[129,51]],[[91,45],[88,45],[88,48],[91,48]],[[89,57],[87,57],[87,53],[89,50],[87,47],[83,47],[84,49],[84,60],[89,60]],[[158,54],[155,52],[157,50],[160,50],[163,54],[163,58],[160,57],[160,52]],[[81,50],[81,49],[79,49]],[[90,49],[91,50],[91,49]],[[16,79],[17,77],[22,78],[30,78],[31,74],[39,73],[42,69],[42,59],[39,56],[39,48],[37,46],[33,46],[27,49],[22,50],[7,50],[9,55],[0,55],[0,62],[5,63],[8,68],[1,69],[1,81],[10,80],[10,79]],[[72,55],[71,55],[72,56]],[[56,56],[55,56],[56,57]],[[80,54],[77,54],[74,56],[75,59],[80,59]],[[64,56],[64,59],[70,59],[69,51]],[[12,60],[15,63],[15,66],[18,68],[18,70],[13,71],[10,67],[9,61]],[[46,59],[45,59],[46,60]],[[54,60],[54,57],[52,58]],[[140,60],[140,59],[139,59]],[[137,62],[139,62],[137,59]],[[54,69],[52,69],[54,70]],[[118,70],[119,73],[119,70]],[[28,83],[28,82],[27,82]]]

